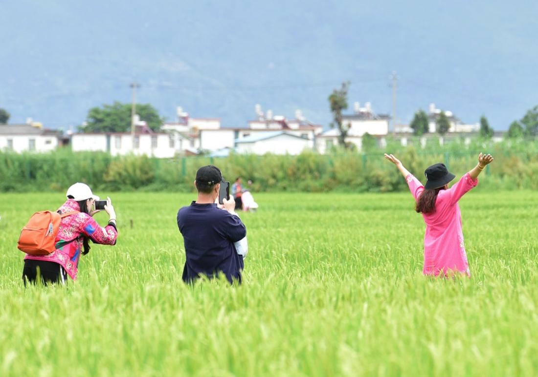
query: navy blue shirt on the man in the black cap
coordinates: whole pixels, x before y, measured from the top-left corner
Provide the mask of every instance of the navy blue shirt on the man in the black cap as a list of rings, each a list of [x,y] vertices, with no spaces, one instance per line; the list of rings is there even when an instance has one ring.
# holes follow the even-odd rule
[[[246,236],[239,216],[216,204],[192,204],[178,211],[178,227],[183,235],[187,260],[183,281],[192,282],[200,274],[213,278],[223,272],[232,282],[241,282],[243,257],[237,254],[234,242]]]

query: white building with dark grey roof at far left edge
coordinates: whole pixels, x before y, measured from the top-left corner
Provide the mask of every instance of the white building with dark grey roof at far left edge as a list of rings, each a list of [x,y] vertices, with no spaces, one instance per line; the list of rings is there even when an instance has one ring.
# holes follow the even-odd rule
[[[0,125],[0,150],[48,152],[61,144],[60,133],[43,128],[39,122]]]

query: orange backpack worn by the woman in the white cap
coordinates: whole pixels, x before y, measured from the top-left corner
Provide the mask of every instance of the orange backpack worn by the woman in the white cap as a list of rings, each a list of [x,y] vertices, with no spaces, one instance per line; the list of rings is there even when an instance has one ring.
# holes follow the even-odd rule
[[[62,217],[77,213],[67,212],[36,212],[20,232],[17,248],[29,255],[47,255],[56,250],[56,235],[60,228]]]

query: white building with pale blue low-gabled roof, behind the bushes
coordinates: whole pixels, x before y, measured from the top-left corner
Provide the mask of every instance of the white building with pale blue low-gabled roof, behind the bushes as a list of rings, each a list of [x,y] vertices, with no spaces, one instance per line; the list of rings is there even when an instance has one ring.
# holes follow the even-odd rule
[[[287,131],[256,133],[236,140],[237,153],[264,155],[298,155],[303,150],[313,150],[314,141]]]

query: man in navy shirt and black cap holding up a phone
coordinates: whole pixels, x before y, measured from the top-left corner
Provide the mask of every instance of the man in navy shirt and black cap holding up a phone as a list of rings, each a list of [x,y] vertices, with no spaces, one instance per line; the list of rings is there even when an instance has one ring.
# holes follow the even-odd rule
[[[200,275],[213,278],[220,272],[230,283],[241,282],[243,257],[233,243],[246,236],[246,228],[235,213],[233,198],[224,198],[224,209],[215,204],[221,182],[222,173],[216,166],[200,168],[194,181],[198,198],[178,212],[178,227],[187,255],[183,268],[185,282],[193,282]]]

